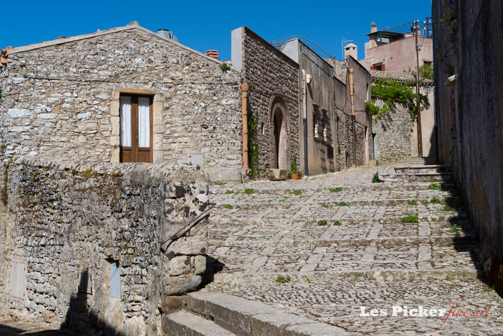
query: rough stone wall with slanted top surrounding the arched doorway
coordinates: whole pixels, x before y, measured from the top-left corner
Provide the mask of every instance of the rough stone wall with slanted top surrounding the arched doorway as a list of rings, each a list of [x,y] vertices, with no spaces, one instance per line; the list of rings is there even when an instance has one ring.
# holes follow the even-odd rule
[[[290,170],[292,155],[299,153],[299,67],[296,62],[274,48],[246,27],[242,30],[242,78],[249,84],[248,113],[259,113],[257,132],[254,134],[259,144],[259,172],[257,178],[267,179],[271,163],[271,104],[280,96],[289,116],[287,149],[287,169]],[[264,133],[262,133],[264,124]],[[299,160],[297,160],[299,162]]]

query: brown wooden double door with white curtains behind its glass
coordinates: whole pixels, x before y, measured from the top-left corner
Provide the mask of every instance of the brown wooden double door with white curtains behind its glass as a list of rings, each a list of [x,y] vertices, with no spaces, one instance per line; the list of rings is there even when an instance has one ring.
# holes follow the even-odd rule
[[[120,161],[153,162],[152,96],[121,94]]]

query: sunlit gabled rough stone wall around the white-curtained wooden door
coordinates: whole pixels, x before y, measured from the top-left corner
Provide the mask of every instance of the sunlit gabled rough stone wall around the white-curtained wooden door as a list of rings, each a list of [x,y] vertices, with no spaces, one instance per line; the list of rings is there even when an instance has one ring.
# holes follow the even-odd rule
[[[190,153],[200,153],[205,173],[237,179],[241,78],[234,68],[222,73],[219,64],[138,26],[11,50],[0,74],[5,154],[110,161],[119,146],[113,92],[139,89],[158,94],[154,105],[162,111],[153,127],[161,151],[155,163],[188,163]]]

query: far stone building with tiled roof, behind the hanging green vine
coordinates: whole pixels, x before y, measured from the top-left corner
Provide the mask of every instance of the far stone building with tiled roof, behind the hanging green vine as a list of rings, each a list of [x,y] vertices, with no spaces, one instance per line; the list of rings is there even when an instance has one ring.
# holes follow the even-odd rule
[[[414,75],[407,72],[370,70],[372,80],[380,78],[391,79],[406,84],[415,82]],[[434,81],[421,78],[420,93],[427,96],[421,104],[421,126],[423,155],[436,159],[436,134],[434,114]],[[377,105],[384,102],[377,99]],[[373,120],[374,159],[397,160],[417,156],[417,121],[411,122],[409,111],[399,103],[394,109],[380,118]]]

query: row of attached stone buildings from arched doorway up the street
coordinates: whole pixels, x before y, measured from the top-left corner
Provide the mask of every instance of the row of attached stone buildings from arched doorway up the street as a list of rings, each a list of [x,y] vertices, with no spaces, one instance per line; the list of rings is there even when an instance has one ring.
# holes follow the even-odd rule
[[[261,177],[274,168],[289,172],[293,155],[304,175],[307,156],[310,176],[369,164],[371,121],[364,105],[370,75],[356,59],[341,63],[343,80],[336,76],[333,60],[322,58],[299,38],[275,47],[247,27],[232,31],[232,64],[249,84],[246,113],[259,117],[253,137],[260,144]]]

